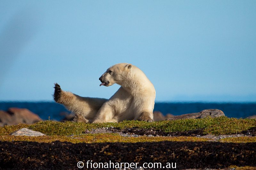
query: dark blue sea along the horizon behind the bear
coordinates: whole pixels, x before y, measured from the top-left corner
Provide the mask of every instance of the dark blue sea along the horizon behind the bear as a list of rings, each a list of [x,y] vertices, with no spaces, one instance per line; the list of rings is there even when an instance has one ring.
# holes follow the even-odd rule
[[[33,113],[39,115],[42,119],[61,120],[63,112],[68,112],[65,107],[55,102],[0,102],[0,110],[7,111],[9,107],[27,108]],[[160,111],[164,115],[182,115],[187,113],[196,113],[204,109],[220,109],[228,117],[246,118],[256,115],[255,103],[156,103],[154,111]],[[68,112],[70,113],[70,112]]]

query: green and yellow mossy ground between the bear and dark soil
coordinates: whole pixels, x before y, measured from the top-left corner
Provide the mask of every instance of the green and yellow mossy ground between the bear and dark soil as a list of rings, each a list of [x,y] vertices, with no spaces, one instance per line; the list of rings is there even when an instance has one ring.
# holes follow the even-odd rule
[[[120,129],[138,127],[140,129],[161,129],[165,132],[177,132],[203,129],[204,134],[213,135],[229,135],[236,134],[243,130],[256,126],[256,119],[236,119],[227,118],[225,116],[219,118],[204,119],[185,119],[175,121],[160,122],[140,122],[140,121],[124,121],[120,123],[80,123],[80,122],[56,122],[41,121],[32,125],[19,124],[14,126],[0,127],[1,141],[33,141],[33,142],[52,142],[59,140],[61,142],[72,143],[99,143],[99,142],[159,142],[159,141],[190,141],[201,142],[211,141],[206,138],[199,137],[123,137],[115,133],[104,134],[83,134],[86,129],[96,129],[102,127],[115,127]],[[10,136],[9,134],[20,128],[28,128],[39,131],[46,136],[43,137],[26,137],[26,136]],[[256,142],[256,137],[228,137],[219,140],[220,142]]]

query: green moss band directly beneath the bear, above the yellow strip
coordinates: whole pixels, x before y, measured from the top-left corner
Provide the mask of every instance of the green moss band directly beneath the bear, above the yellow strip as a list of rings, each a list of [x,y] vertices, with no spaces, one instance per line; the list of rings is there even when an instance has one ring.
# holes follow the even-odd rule
[[[174,121],[159,122],[141,122],[141,121],[123,121],[119,123],[80,123],[80,122],[55,122],[41,121],[32,125],[19,124],[15,126],[0,127],[0,135],[8,135],[11,132],[28,128],[42,132],[46,135],[79,135],[86,129],[96,129],[102,127],[116,127],[120,129],[139,127],[161,129],[165,132],[188,131],[195,129],[204,129],[204,134],[235,134],[243,130],[256,126],[256,119],[236,119],[227,118],[225,116],[219,118],[203,118],[203,119],[182,119]]]

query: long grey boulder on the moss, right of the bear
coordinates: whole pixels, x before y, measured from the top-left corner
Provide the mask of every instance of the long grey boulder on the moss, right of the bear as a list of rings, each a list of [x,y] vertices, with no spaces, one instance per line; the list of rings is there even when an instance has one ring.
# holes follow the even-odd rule
[[[184,115],[179,115],[179,116],[173,116],[173,117],[168,118],[167,120],[200,119],[200,118],[204,118],[207,116],[220,117],[220,116],[225,116],[225,114],[219,109],[205,109],[198,113],[189,113],[189,114],[184,114]]]

